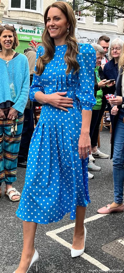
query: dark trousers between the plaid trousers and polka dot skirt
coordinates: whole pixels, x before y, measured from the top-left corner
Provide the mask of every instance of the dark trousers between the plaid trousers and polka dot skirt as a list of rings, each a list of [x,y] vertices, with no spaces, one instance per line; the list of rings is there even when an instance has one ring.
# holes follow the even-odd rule
[[[29,145],[34,132],[34,113],[33,108],[24,110],[24,123],[22,137],[19,147],[18,163],[27,161]]]

